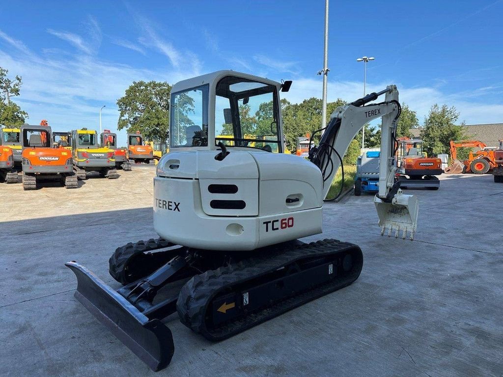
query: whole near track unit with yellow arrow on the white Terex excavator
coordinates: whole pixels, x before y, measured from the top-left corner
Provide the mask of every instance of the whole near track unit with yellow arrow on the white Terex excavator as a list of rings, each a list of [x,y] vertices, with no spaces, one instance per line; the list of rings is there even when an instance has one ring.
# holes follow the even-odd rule
[[[301,244],[195,275],[180,291],[177,311],[190,329],[221,340],[352,284],[362,266],[357,245]]]

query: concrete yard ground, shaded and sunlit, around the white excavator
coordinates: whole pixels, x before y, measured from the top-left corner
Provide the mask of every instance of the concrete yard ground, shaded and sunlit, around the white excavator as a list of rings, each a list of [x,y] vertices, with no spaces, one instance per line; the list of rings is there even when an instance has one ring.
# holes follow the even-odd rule
[[[0,184],[0,375],[154,375],[74,298],[77,260],[117,288],[108,258],[155,237],[154,169],[77,190]],[[350,287],[219,343],[176,315],[159,376],[501,376],[503,184],[444,175],[420,201],[414,241],[381,237],[372,196],[326,204],[324,233],[364,253]]]

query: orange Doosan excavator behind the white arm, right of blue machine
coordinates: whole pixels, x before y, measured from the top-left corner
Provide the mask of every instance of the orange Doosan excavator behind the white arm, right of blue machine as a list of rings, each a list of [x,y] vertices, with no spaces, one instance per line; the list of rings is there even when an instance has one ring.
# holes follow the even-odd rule
[[[401,189],[438,190],[440,180],[436,175],[442,174],[442,160],[428,157],[423,152],[423,141],[410,140],[404,136],[397,139],[397,177]]]

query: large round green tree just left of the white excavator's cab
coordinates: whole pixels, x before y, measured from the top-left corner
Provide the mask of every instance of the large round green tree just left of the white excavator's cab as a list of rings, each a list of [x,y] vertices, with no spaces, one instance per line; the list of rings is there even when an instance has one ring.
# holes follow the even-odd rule
[[[167,139],[170,121],[171,85],[158,81],[133,81],[123,97],[117,100],[119,121],[117,129],[128,133],[139,131],[146,140]],[[193,104],[186,103],[185,116],[193,111]],[[184,118],[185,119],[185,118]],[[189,122],[187,125],[190,125]]]

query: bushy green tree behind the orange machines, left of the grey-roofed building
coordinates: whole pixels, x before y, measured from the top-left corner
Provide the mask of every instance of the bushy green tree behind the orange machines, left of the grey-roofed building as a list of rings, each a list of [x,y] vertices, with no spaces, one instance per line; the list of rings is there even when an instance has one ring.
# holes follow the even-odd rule
[[[454,106],[435,104],[430,109],[430,113],[425,118],[425,126],[421,131],[423,139],[423,149],[428,155],[438,155],[439,153],[449,153],[449,143],[451,140],[462,140],[469,138],[464,128],[464,122],[456,125],[459,113]]]

